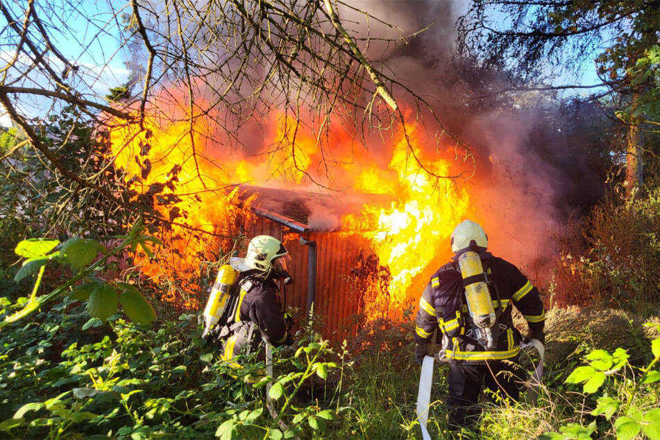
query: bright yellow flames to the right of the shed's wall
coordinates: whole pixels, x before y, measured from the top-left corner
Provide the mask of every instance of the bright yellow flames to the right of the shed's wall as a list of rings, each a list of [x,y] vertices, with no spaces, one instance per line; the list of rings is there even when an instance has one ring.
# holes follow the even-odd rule
[[[414,133],[407,128],[409,133]],[[410,135],[417,157],[423,157],[420,139]],[[423,164],[437,175],[447,175],[450,162],[442,158],[427,158]],[[468,194],[430,178],[421,166],[411,160],[405,138],[394,146],[389,171],[394,171],[394,182],[381,182],[373,178],[373,170],[364,171],[359,179],[360,189],[380,194],[388,187],[398,200],[382,208],[365,205],[357,215],[344,217],[344,230],[359,233],[369,239],[371,249],[382,266],[387,266],[391,280],[387,287],[389,314],[398,314],[409,299],[420,296],[430,276],[450,255],[449,237],[454,226],[468,209]],[[394,185],[394,186],[392,186]],[[378,292],[374,295],[378,297]],[[371,315],[383,312],[376,304]]]

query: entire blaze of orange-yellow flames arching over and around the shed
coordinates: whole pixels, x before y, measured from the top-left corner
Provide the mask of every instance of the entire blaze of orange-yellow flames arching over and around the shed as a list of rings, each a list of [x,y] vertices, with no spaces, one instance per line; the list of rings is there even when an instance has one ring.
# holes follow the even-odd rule
[[[223,144],[212,124],[196,124],[191,138],[185,117],[182,108],[156,103],[144,119],[144,129],[132,124],[110,130],[115,165],[126,171],[133,198],[153,204],[158,214],[174,221],[171,229],[160,231],[164,246],[157,258],[136,257],[142,272],[153,280],[183,282],[183,292],[170,290],[170,301],[199,306],[196,301],[202,296],[194,295],[201,293],[194,280],[204,262],[220,248],[231,248],[237,224],[250,215],[238,208],[238,189],[227,188],[238,183],[305,189],[313,180],[346,193],[366,194],[372,201],[359,214],[344,215],[341,223],[342,233],[359,235],[369,243],[381,272],[387,274],[384,285],[381,280],[369,286],[375,300],[369,305],[373,309],[366,310],[371,316],[377,309],[392,314],[407,299],[418,298],[449,256],[449,235],[466,215],[468,194],[446,180],[431,178],[409,154],[403,130],[384,146],[367,150],[350,130],[331,131],[324,143],[306,126],[296,127],[289,117],[270,114],[263,117],[264,126],[271,127],[269,139],[256,153],[242,155]],[[445,154],[443,146],[416,128],[406,130],[425,168],[449,174],[452,163],[443,156],[452,157],[453,151]],[[214,234],[220,237],[214,239]]]

